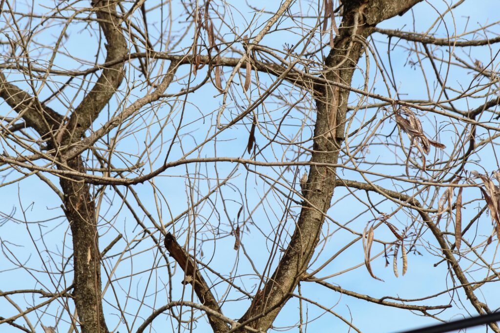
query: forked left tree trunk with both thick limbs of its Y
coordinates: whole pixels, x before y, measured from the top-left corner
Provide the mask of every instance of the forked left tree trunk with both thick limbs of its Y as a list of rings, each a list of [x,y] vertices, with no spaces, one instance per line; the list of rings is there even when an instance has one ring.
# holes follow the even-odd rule
[[[93,1],[99,26],[106,38],[106,61],[120,59],[127,52],[125,38],[119,28],[115,2]],[[59,144],[77,142],[120,85],[123,63],[102,70],[96,83],[81,103],[71,113],[69,125],[54,110],[42,105],[35,97],[17,86],[8,83],[0,72],[0,97],[3,98],[26,123],[42,138],[48,140],[48,148]],[[58,156],[55,156],[57,158]],[[59,169],[85,172],[83,161],[78,155]],[[78,313],[81,332],[108,332],[104,322],[101,302],[100,254],[96,227],[95,206],[87,184],[60,178],[64,195],[64,213],[69,222],[73,240],[74,290],[73,297]]]

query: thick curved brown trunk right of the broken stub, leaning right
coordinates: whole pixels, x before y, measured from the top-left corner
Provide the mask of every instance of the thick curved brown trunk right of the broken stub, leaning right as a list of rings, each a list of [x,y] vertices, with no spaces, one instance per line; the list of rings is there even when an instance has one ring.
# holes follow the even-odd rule
[[[334,47],[325,59],[325,76],[331,81],[350,85],[352,74],[362,52],[362,44],[353,35],[366,38],[373,26],[386,18],[406,11],[419,0],[411,1],[345,1],[344,16]],[[368,24],[369,23],[369,24]],[[344,140],[349,91],[324,87],[316,96],[316,124],[311,162],[337,163]],[[272,277],[257,292],[239,323],[268,330],[281,308],[296,288],[314,253],[324,214],[330,207],[335,187],[335,170],[311,167],[307,179],[305,202],[290,243]]]

